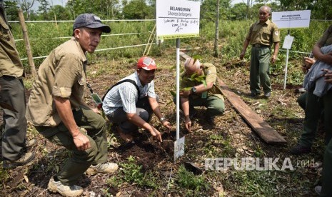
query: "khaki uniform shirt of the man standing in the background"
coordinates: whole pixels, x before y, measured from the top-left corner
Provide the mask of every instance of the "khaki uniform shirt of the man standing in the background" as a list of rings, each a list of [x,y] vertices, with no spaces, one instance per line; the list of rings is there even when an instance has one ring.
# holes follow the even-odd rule
[[[271,46],[275,42],[280,42],[280,32],[278,26],[270,19],[260,24],[259,21],[252,24],[246,36],[251,44],[263,44]]]

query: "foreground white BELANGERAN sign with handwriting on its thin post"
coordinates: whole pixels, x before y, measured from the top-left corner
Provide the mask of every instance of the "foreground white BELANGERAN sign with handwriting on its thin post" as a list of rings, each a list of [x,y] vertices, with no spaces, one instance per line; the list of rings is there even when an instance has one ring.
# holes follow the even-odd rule
[[[180,38],[199,36],[200,3],[184,0],[156,0],[157,39],[176,39],[176,141],[174,161],[184,154],[180,138]]]

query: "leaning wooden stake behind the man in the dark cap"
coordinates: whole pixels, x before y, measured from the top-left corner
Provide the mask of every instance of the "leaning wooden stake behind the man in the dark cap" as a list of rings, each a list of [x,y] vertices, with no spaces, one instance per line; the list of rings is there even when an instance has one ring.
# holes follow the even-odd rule
[[[19,24],[21,25],[23,32],[24,44],[26,45],[26,54],[28,56],[29,65],[31,67],[31,73],[36,78],[36,67],[34,66],[34,59],[31,52],[28,30],[26,29],[26,23],[24,20],[24,15],[22,9],[19,9]]]

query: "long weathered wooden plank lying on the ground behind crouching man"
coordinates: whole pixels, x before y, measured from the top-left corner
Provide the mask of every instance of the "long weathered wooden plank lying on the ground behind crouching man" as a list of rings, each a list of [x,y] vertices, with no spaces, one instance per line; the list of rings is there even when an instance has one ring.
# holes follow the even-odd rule
[[[190,56],[184,54],[183,52],[180,52],[180,55],[183,59],[190,58]],[[223,93],[223,96],[226,96],[228,101],[232,104],[232,106],[240,113],[240,115],[246,120],[246,122],[253,128],[254,131],[260,136],[263,141],[266,143],[271,144],[285,144],[287,141],[283,136],[281,136],[277,131],[275,131],[271,126],[266,123],[266,121],[261,118],[261,116],[258,116],[257,113],[251,110],[249,106],[242,101],[240,96],[233,93],[231,89],[228,88],[226,84],[221,81],[221,79],[218,79],[218,83],[221,86],[221,90]]]

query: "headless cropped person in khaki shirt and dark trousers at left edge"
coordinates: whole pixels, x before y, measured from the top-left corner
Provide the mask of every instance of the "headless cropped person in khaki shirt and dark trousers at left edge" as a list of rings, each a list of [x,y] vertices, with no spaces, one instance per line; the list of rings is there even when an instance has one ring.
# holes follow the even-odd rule
[[[34,158],[34,153],[26,152],[26,147],[36,141],[26,141],[24,76],[23,64],[7,23],[4,1],[0,0],[0,101],[5,124],[1,153],[4,168],[21,166]]]

